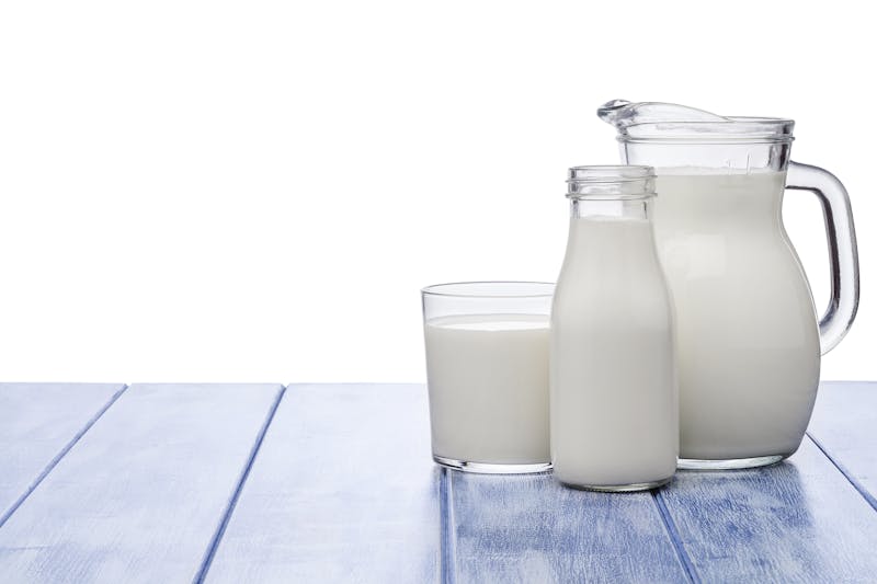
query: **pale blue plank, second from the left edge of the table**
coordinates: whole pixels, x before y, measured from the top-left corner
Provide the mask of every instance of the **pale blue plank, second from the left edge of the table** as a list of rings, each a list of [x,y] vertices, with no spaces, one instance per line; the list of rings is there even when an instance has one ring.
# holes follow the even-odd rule
[[[0,529],[0,581],[192,581],[281,391],[128,388]]]

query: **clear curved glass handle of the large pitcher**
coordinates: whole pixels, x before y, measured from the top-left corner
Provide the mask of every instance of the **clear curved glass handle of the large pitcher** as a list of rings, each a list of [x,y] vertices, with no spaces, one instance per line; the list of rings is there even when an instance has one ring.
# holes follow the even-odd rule
[[[824,355],[853,325],[858,310],[858,250],[853,209],[841,181],[810,164],[789,162],[786,188],[810,191],[822,205],[831,264],[831,299],[819,320],[819,339]]]

